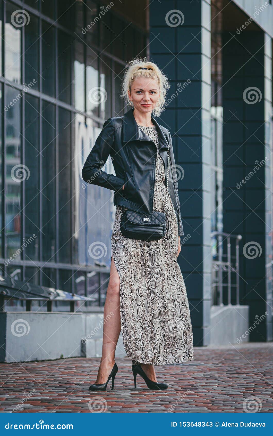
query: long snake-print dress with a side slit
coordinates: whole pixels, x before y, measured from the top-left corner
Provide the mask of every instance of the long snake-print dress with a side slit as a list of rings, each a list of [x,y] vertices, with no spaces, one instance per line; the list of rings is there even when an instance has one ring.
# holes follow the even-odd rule
[[[166,187],[158,154],[156,126],[139,126],[157,147],[154,211],[164,211]],[[112,256],[120,278],[121,331],[133,364],[168,365],[193,359],[192,325],[184,279],[177,263],[178,224],[167,196],[167,231],[158,241],[121,234],[117,206],[111,236]]]

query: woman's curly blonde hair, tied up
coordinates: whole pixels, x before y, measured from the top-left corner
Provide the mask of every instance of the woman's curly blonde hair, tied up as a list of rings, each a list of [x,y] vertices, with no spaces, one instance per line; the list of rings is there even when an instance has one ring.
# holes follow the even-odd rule
[[[143,69],[147,68],[147,69]],[[132,59],[126,65],[125,73],[122,80],[122,94],[128,105],[130,105],[130,100],[128,96],[128,90],[131,92],[131,85],[133,81],[138,77],[147,77],[155,79],[159,85],[159,99],[157,106],[153,109],[153,115],[159,116],[164,110],[166,103],[165,97],[167,89],[169,89],[169,81],[165,74],[155,65],[153,62],[147,61],[146,58],[136,58]]]

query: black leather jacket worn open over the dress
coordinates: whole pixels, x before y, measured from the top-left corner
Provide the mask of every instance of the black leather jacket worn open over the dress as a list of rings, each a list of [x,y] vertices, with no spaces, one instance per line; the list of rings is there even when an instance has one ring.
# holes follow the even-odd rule
[[[119,204],[134,211],[151,214],[153,211],[157,150],[155,143],[139,129],[133,110],[129,109],[124,116],[108,118],[105,121],[101,133],[85,161],[81,174],[84,181],[88,183],[114,190],[115,205]],[[166,180],[167,150],[170,150],[168,191],[179,226],[178,234],[183,236],[178,185],[173,177],[175,171],[172,173],[175,159],[171,134],[168,129],[160,126],[153,116],[152,122],[158,131],[158,148],[165,165]],[[101,171],[109,155],[116,175]],[[123,185],[125,185],[124,191],[122,190]]]

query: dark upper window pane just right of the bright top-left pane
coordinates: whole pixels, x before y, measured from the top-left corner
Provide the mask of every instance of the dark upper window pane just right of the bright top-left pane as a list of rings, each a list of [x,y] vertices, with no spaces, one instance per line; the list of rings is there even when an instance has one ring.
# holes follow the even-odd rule
[[[33,89],[39,89],[40,79],[38,35],[38,19],[34,15],[30,15],[30,22],[25,26],[25,82]]]

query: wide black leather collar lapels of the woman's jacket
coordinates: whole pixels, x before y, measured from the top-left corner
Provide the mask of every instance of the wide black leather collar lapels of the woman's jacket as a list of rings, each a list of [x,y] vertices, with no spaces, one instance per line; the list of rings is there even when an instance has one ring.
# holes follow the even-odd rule
[[[127,143],[130,141],[137,140],[150,140],[150,138],[145,135],[145,133],[139,129],[135,117],[133,114],[134,108],[130,108],[128,112],[125,112],[123,116],[123,142]],[[158,148],[167,147],[169,148],[168,140],[166,139],[165,133],[163,132],[161,126],[157,123],[155,118],[151,116],[153,124],[156,126],[158,131]]]

